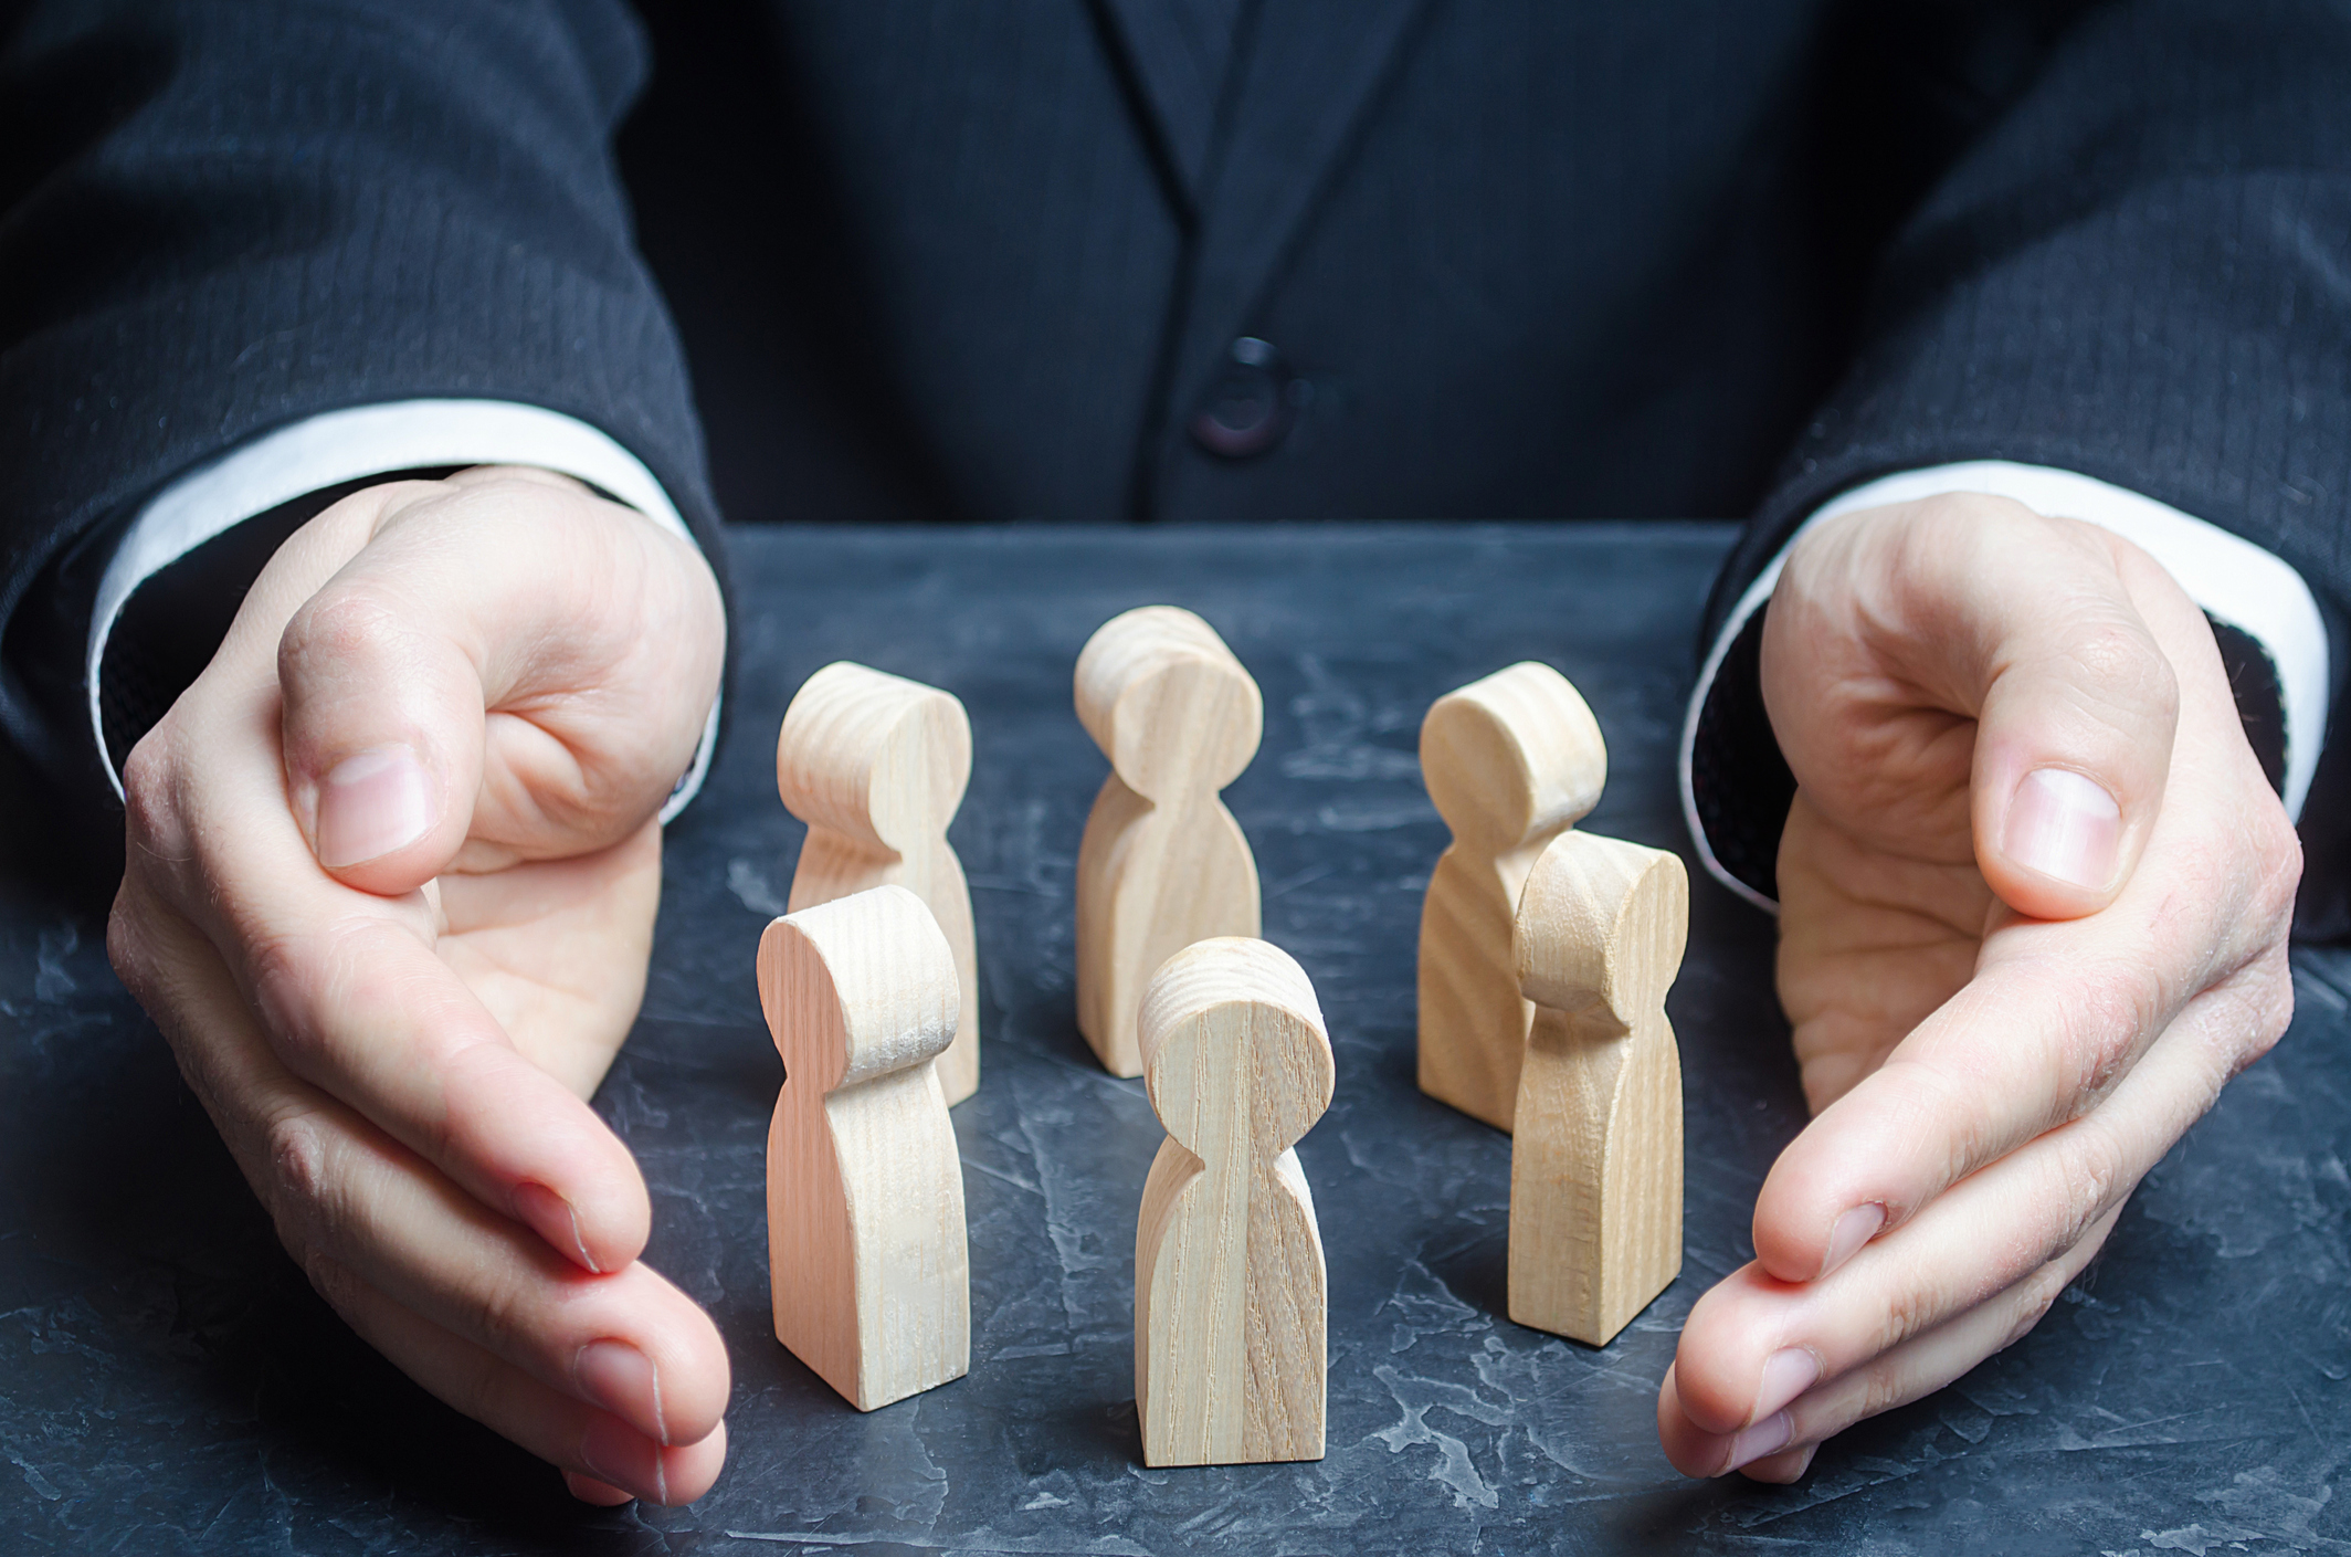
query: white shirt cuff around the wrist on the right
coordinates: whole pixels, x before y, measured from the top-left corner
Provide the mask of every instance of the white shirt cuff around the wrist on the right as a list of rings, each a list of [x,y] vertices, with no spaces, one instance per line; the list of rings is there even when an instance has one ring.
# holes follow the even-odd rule
[[[2318,753],[2327,736],[2327,628],[2318,614],[2311,586],[2302,581],[2283,557],[2233,536],[2219,524],[2182,513],[2170,503],[2114,487],[2109,482],[2057,470],[2052,466],[2017,466],[2005,459],[1977,459],[1956,466],[1933,466],[1928,470],[1902,470],[1878,477],[1864,487],[1838,494],[1808,517],[1780,548],[1756,581],[1747,586],[1723,630],[1716,633],[1707,661],[1697,673],[1697,691],[1690,694],[1688,715],[1681,722],[1681,814],[1690,823],[1697,856],[1714,880],[1730,887],[1749,903],[1777,913],[1777,906],[1735,880],[1714,858],[1697,818],[1697,795],[1690,788],[1690,757],[1697,750],[1697,713],[1707,706],[1723,656],[1730,654],[1740,628],[1763,609],[1780,569],[1787,567],[1789,548],[1822,520],[1860,508],[1883,508],[1888,503],[1911,503],[1944,492],[1987,492],[2005,496],[2036,513],[2085,520],[2109,529],[2151,555],[2186,590],[2208,616],[2252,635],[2278,670],[2278,701],[2285,724],[2285,814],[2302,818],[2302,802],[2311,793],[2318,774]]]

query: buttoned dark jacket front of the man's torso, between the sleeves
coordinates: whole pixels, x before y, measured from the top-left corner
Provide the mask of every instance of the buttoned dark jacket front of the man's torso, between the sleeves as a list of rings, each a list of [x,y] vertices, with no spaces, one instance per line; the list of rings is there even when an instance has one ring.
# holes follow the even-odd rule
[[[621,151],[738,520],[1730,517],[2055,26],[1874,9],[701,0]]]

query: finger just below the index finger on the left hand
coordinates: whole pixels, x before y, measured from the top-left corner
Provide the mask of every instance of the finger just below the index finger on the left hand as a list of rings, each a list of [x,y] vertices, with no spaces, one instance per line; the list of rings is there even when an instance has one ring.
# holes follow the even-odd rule
[[[129,953],[129,931],[115,938]],[[694,1442],[717,1423],[726,1350],[691,1298],[642,1263],[592,1277],[557,1258],[287,1072],[202,936],[139,941],[127,976],[143,995],[172,985],[186,997],[167,1035],[296,1258],[334,1258],[440,1329],[658,1442]]]

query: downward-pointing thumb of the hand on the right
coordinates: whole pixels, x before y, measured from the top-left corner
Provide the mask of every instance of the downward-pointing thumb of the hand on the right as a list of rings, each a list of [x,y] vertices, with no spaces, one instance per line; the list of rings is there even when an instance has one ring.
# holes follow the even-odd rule
[[[2020,915],[2074,920],[2123,891],[2163,809],[2179,684],[2139,593],[2172,586],[2092,524],[2017,503],[1970,517],[1944,588],[1951,670],[1975,682],[1975,861]]]

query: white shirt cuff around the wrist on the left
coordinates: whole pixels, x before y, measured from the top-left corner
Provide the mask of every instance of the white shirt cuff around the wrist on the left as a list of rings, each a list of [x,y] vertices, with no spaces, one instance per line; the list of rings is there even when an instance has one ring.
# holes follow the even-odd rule
[[[89,689],[89,731],[99,743],[99,762],[118,797],[122,795],[122,776],[106,753],[106,729],[99,722],[99,666],[106,656],[106,640],[139,586],[205,541],[299,496],[369,475],[433,466],[560,470],[609,492],[663,529],[694,541],[694,532],[686,529],[670,494],[661,489],[642,459],[585,421],[536,405],[395,400],[322,412],[240,445],[158,492],[132,520],[99,579],[82,684]],[[703,788],[717,731],[719,699],[712,699],[694,764],[670,790],[670,800],[661,807],[661,821],[677,816]]]

